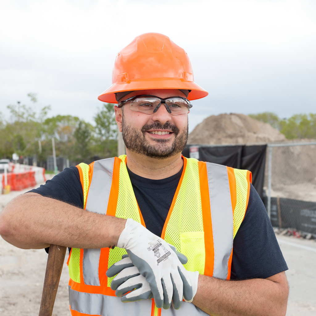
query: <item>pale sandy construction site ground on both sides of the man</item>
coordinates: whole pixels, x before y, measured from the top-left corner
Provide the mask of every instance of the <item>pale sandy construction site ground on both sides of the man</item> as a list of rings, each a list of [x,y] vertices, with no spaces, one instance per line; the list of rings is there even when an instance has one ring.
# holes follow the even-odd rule
[[[0,195],[0,211],[18,194]],[[316,315],[316,242],[276,235],[289,270],[290,285],[287,316]],[[67,251],[68,257],[68,251]],[[47,253],[44,249],[19,249],[0,237],[0,315],[37,316],[40,309]],[[53,310],[54,316],[70,316],[66,260]],[[128,303],[127,303],[128,304]]]

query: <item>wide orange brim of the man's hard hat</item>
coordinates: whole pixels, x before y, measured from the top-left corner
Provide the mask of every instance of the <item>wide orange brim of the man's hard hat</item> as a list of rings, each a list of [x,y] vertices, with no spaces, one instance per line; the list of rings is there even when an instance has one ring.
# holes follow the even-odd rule
[[[113,83],[98,96],[98,100],[108,103],[118,103],[115,99],[117,92],[151,89],[187,89],[191,90],[188,100],[197,100],[206,97],[209,93],[195,82],[185,81],[178,78],[147,78],[130,80],[129,82]]]

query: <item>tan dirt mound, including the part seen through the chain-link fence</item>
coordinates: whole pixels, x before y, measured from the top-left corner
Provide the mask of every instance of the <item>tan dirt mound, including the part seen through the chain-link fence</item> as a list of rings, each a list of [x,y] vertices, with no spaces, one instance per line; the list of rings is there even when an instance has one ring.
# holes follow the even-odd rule
[[[212,115],[190,133],[189,144],[308,143],[315,139],[287,140],[271,125],[244,114]],[[272,148],[273,197],[316,202],[316,145]],[[268,159],[264,189],[268,186]]]

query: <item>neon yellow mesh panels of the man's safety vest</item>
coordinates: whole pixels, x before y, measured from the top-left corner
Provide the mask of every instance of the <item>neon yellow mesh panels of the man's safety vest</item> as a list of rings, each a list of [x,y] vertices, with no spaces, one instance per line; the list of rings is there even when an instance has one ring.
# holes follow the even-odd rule
[[[138,211],[136,197],[131,185],[127,168],[125,165],[126,155],[121,155],[119,171],[119,197],[116,208],[116,217],[132,218],[141,222]],[[86,203],[86,194],[89,183],[89,167],[81,163],[84,179],[84,205]],[[244,218],[247,201],[247,170],[234,169],[236,179],[237,201],[234,210],[234,237]],[[177,248],[178,251],[185,254],[188,263],[185,268],[189,271],[199,271],[204,274],[205,265],[205,246],[203,215],[200,196],[200,183],[198,174],[198,161],[194,158],[187,159],[187,165],[183,181],[176,198],[176,202],[167,223],[165,238],[168,243]],[[108,268],[122,258],[125,249],[115,247],[110,249]],[[80,283],[80,249],[73,248],[69,261],[70,278]],[[110,287],[113,278],[108,278],[107,286]]]

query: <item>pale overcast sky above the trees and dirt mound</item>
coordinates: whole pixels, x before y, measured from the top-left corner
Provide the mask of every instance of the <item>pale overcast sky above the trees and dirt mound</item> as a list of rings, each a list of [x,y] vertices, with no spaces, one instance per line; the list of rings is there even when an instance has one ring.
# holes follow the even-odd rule
[[[219,113],[316,112],[316,2],[307,0],[0,0],[0,111],[38,94],[49,116],[93,123],[117,53],[163,33],[188,53],[190,131]]]

